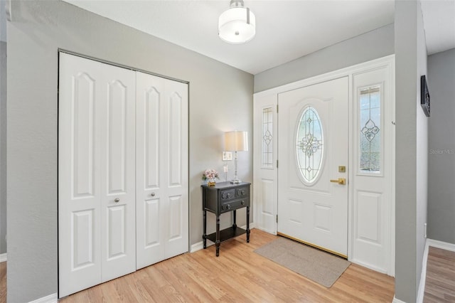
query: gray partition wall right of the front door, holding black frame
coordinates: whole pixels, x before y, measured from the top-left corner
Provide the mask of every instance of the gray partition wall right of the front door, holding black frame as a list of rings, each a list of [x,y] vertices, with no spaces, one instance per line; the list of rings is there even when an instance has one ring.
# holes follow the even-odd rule
[[[419,88],[426,60],[419,1],[395,1],[395,297],[403,302],[417,299],[424,251],[428,124]]]

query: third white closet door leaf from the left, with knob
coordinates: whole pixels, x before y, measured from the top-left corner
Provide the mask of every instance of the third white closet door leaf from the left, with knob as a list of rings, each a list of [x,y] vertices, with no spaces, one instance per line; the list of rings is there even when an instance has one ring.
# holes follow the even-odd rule
[[[164,260],[167,221],[162,196],[162,174],[166,169],[161,157],[161,119],[166,79],[137,73],[136,85],[136,197],[137,269]]]

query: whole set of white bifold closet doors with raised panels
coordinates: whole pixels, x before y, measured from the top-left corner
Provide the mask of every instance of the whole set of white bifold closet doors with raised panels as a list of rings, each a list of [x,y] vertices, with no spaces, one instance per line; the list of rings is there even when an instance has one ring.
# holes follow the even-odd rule
[[[188,251],[188,85],[66,53],[59,72],[64,297]]]

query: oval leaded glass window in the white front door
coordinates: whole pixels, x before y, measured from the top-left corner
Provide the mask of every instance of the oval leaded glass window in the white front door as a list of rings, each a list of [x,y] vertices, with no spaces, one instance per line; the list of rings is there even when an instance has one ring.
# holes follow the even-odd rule
[[[297,127],[297,165],[304,181],[311,184],[319,175],[323,157],[322,124],[316,109],[306,107]]]

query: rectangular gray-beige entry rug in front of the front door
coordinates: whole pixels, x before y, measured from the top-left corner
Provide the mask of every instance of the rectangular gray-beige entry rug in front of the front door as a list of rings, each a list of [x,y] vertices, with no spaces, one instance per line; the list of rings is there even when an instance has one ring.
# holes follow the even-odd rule
[[[350,265],[341,257],[282,237],[255,252],[328,288]]]

